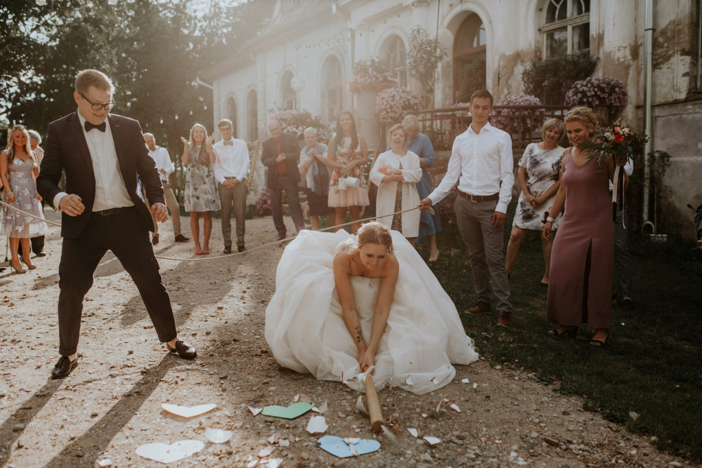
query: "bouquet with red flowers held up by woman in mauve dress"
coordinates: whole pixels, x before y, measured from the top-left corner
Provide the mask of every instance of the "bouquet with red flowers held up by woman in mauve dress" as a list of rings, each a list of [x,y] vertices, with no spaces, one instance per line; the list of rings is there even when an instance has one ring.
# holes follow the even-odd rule
[[[628,159],[634,159],[649,140],[644,133],[636,133],[616,121],[611,127],[598,127],[592,140],[582,142],[579,147],[589,156],[597,156],[600,165],[605,159],[614,159],[618,166],[624,166]]]

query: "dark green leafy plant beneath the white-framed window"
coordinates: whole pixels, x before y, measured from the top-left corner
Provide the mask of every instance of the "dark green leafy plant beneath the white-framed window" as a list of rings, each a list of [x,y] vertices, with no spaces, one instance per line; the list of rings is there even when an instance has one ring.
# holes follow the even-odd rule
[[[524,93],[535,95],[545,104],[562,105],[571,85],[588,78],[596,65],[589,51],[531,60],[522,72]]]

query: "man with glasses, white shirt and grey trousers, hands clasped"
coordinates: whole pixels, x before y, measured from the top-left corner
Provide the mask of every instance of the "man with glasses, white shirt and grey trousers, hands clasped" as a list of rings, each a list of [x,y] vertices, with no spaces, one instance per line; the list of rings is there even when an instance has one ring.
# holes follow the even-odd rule
[[[232,253],[232,204],[237,220],[237,248],[244,252],[244,220],[246,218],[246,174],[249,173],[249,147],[244,140],[232,138],[234,126],[230,119],[222,119],[217,124],[222,140],[216,142],[215,163],[212,168],[217,180],[220,201],[222,202],[222,237],[225,254]]]

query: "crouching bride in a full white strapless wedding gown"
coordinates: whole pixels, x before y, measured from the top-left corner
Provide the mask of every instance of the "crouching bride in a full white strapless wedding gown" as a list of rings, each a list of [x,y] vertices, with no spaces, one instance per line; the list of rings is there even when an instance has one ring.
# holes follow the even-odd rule
[[[402,234],[369,222],[352,236],[303,230],[284,250],[265,313],[275,359],[360,392],[371,366],[424,394],[477,359],[453,302]]]

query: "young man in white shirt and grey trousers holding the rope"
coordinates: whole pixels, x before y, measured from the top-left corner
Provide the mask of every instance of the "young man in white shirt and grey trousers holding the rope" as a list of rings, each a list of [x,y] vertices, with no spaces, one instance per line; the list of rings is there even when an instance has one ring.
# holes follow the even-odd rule
[[[503,255],[505,213],[515,182],[512,139],[491,126],[493,97],[487,90],[470,97],[472,123],[453,141],[446,175],[434,192],[419,206],[427,210],[442,201],[458,182],[454,209],[458,229],[470,254],[477,305],[467,314],[490,312],[492,293],[497,299],[498,325],[511,325],[510,283]]]

